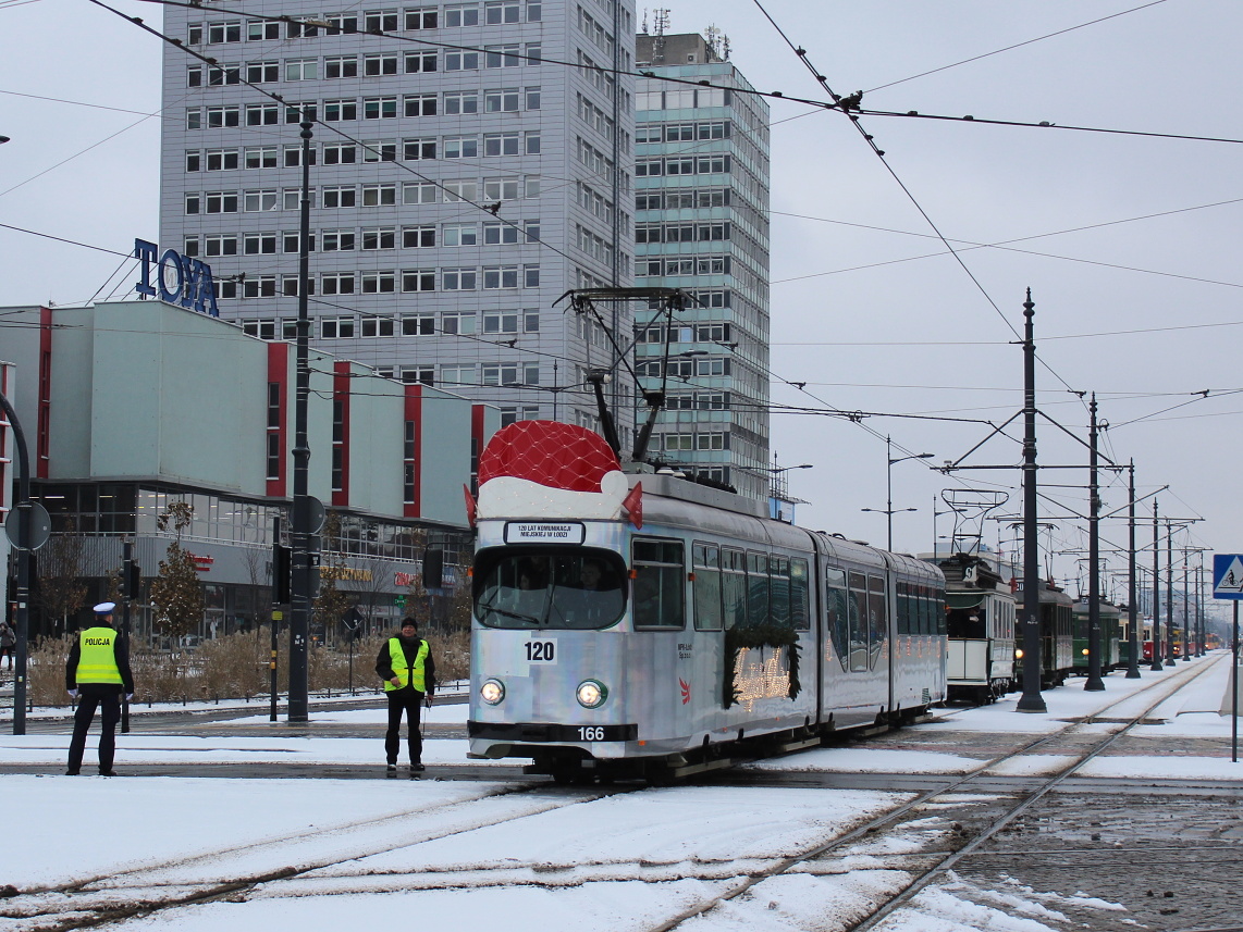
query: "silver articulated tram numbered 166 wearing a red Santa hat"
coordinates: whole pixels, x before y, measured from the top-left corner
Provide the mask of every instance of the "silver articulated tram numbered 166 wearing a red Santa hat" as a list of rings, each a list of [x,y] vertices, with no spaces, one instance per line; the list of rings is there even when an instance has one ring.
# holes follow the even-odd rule
[[[658,779],[946,697],[945,578],[927,563],[625,475],[597,435],[547,421],[492,439],[469,508],[471,757]]]

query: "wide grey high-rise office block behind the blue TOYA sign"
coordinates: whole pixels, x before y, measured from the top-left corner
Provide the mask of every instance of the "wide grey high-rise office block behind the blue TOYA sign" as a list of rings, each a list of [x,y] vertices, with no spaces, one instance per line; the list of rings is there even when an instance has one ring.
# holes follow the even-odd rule
[[[614,350],[553,304],[633,283],[633,0],[164,16],[162,247],[211,266],[221,317],[295,337],[311,113],[314,344],[505,423],[597,426],[583,374]]]

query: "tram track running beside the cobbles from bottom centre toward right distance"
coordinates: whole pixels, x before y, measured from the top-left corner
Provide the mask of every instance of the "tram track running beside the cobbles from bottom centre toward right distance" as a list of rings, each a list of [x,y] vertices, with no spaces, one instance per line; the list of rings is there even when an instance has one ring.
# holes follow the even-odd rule
[[[979,767],[951,778],[945,785],[937,787],[925,793],[920,793],[915,798],[894,806],[881,815],[869,819],[863,824],[828,839],[820,844],[813,845],[810,847],[799,851],[798,854],[774,860],[767,869],[761,871],[755,871],[747,875],[742,875],[741,880],[733,884],[726,891],[706,898],[700,903],[696,903],[686,910],[682,910],[671,918],[661,922],[656,926],[651,926],[648,932],[672,932],[672,930],[679,928],[684,923],[689,922],[700,916],[705,916],[712,910],[728,903],[731,901],[738,900],[740,897],[752,895],[753,890],[763,884],[764,881],[779,877],[782,875],[789,874],[798,869],[799,871],[807,871],[809,865],[825,855],[838,854],[842,849],[846,849],[849,845],[868,839],[869,836],[876,836],[878,834],[892,829],[904,816],[916,814],[920,809],[935,804],[937,798],[945,797],[961,790],[971,790],[972,784],[987,774],[991,769],[998,767],[1006,761],[1011,761],[1024,754],[1029,754],[1039,748],[1053,744],[1059,739],[1064,739],[1066,734],[1074,732],[1075,729],[1081,729],[1084,726],[1091,726],[1101,720],[1108,718],[1109,713],[1117,708],[1119,706],[1135,702],[1139,696],[1149,692],[1150,690],[1156,691],[1156,698],[1152,698],[1144,706],[1142,711],[1137,715],[1122,718],[1117,722],[1117,728],[1109,733],[1101,734],[1098,741],[1093,742],[1093,746],[1078,754],[1075,754],[1074,761],[1064,767],[1059,768],[1054,774],[1039,779],[1038,785],[1030,792],[1025,793],[1022,799],[1017,803],[1006,808],[1006,810],[997,818],[992,819],[988,825],[986,825],[981,831],[978,831],[972,838],[962,836],[960,840],[962,844],[941,857],[936,859],[936,862],[922,871],[915,871],[915,876],[906,884],[902,884],[888,900],[880,902],[873,908],[868,915],[860,916],[854,920],[850,925],[844,926],[845,932],[868,932],[868,930],[875,928],[880,922],[883,922],[889,915],[895,912],[897,908],[907,905],[920,891],[930,886],[935,880],[943,876],[947,871],[951,871],[956,864],[963,859],[971,857],[978,849],[996,838],[1002,833],[1008,825],[1014,823],[1016,819],[1022,816],[1029,809],[1032,809],[1040,799],[1043,799],[1048,793],[1064,784],[1075,772],[1078,772],[1084,764],[1086,764],[1093,758],[1098,757],[1108,747],[1110,747],[1117,738],[1124,736],[1131,728],[1142,724],[1150,713],[1156,710],[1161,703],[1166,702],[1171,696],[1175,695],[1186,682],[1196,678],[1207,670],[1212,667],[1208,665],[1197,665],[1195,667],[1180,669],[1173,676],[1158,680],[1150,686],[1145,686],[1137,692],[1129,693],[1126,696],[1119,697],[1116,701],[1109,703],[1098,712],[1085,716],[1083,720],[1068,722],[1065,727],[1057,729],[1049,734],[1040,736],[1029,742],[1025,742],[1018,748],[1011,749],[1004,754],[999,754],[989,761],[984,761]],[[953,824],[955,826],[958,823]],[[961,828],[961,826],[960,826]],[[983,854],[983,852],[981,852]],[[1237,851],[1234,852],[1237,857]]]

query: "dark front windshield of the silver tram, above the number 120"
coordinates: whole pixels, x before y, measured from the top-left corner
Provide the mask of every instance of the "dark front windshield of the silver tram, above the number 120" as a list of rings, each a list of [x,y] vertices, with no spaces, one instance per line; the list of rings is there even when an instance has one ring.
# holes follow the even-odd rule
[[[608,628],[625,609],[625,565],[612,551],[480,553],[475,618],[488,628]]]

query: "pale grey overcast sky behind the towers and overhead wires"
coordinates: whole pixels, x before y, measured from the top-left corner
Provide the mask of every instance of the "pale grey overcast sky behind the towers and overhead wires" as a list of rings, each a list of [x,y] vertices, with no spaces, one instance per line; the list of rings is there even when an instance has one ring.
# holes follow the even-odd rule
[[[159,22],[155,4],[118,7]],[[1086,513],[1089,413],[1076,393],[1096,394],[1109,425],[1103,456],[1135,460],[1139,495],[1168,486],[1156,495],[1160,513],[1197,519],[1176,534],[1178,551],[1243,551],[1232,440],[1243,425],[1233,394],[1243,390],[1234,364],[1243,6],[670,0],[669,9],[670,32],[721,30],[761,91],[827,101],[805,58],[835,93],[864,91],[865,112],[955,118],[863,116],[883,160],[840,113],[771,99],[772,400],[864,413],[773,414],[778,465],[814,466],[789,473],[791,492],[808,502],[799,523],[884,546],[886,435],[892,459],[932,454],[892,466],[891,508],[917,508],[892,514],[895,549],[926,552],[951,533],[946,488],[1006,492],[994,514],[1018,514],[1016,470],[946,476],[931,466],[1021,462],[1021,418],[972,450],[1022,410],[1014,340],[1030,288],[1039,460],[1073,467],[1040,473],[1040,519],[1052,526],[1042,559],[1054,578],[1071,594],[1086,588],[1086,522],[1075,516]],[[160,106],[160,53],[157,40],[87,0],[0,0],[0,134],[11,137],[0,145],[0,224],[122,254],[135,236],[157,237],[158,124],[143,114]],[[65,102],[40,99],[48,97]],[[968,114],[976,119],[958,119]],[[122,263],[4,227],[0,256],[0,306],[106,296]],[[1103,513],[1121,509],[1103,522],[1103,548],[1125,547],[1125,473],[1104,470],[1101,486]],[[1141,546],[1152,537],[1151,505],[1140,506]],[[1011,523],[987,522],[986,542],[1011,553]],[[1125,559],[1108,565],[1122,569]],[[1121,594],[1112,582],[1105,590]]]

